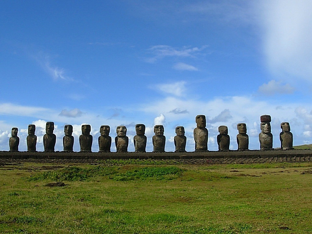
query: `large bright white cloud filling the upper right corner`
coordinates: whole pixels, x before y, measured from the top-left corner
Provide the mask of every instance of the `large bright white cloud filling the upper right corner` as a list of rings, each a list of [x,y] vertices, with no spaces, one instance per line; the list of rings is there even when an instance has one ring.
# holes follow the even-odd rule
[[[259,3],[264,53],[271,71],[311,81],[312,2],[272,0]]]

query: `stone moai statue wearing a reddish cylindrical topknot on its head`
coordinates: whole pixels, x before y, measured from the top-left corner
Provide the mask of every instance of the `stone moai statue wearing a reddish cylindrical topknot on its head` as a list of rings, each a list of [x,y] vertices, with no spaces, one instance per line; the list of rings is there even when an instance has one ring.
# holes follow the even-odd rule
[[[261,133],[259,134],[260,149],[270,150],[273,149],[273,135],[271,133],[271,116],[261,115]]]

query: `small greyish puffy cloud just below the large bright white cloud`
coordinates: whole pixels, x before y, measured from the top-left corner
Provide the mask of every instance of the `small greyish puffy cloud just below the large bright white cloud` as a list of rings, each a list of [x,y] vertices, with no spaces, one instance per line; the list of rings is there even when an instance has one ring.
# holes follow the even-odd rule
[[[258,91],[267,95],[291,94],[294,88],[289,84],[283,85],[281,81],[270,80],[267,84],[261,85]]]

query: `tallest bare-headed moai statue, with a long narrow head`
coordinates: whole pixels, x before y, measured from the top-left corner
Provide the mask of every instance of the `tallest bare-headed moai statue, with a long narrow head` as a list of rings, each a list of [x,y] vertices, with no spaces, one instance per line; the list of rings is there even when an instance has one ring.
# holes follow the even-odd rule
[[[194,129],[195,152],[208,150],[208,130],[206,129],[206,116],[196,116],[197,128]]]

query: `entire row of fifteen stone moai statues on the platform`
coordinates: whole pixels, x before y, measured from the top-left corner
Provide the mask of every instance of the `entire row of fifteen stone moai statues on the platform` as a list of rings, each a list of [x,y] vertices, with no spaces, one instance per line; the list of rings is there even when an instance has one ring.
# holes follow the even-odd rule
[[[261,133],[259,134],[260,149],[273,149],[273,135],[271,134],[271,116],[261,115],[260,117]],[[208,130],[206,128],[206,116],[196,116],[197,127],[194,129],[195,152],[208,151]],[[281,123],[282,132],[280,133],[281,149],[293,149],[293,135],[290,132],[290,125],[287,122]],[[28,125],[27,136],[27,151],[36,151],[37,136],[35,135],[36,126]],[[249,137],[245,123],[237,124],[238,134],[236,136],[238,150],[248,150]],[[43,136],[43,145],[45,152],[54,152],[56,144],[56,135],[53,134],[54,123],[46,123],[46,134]],[[219,135],[217,135],[217,143],[219,151],[226,151],[230,148],[230,136],[228,135],[227,126],[219,126]],[[81,126],[82,134],[79,136],[80,152],[91,152],[93,137],[90,135],[91,126],[84,124]],[[145,134],[145,125],[135,125],[136,135],[133,138],[135,152],[146,152],[147,137]],[[12,128],[12,136],[9,139],[10,151],[18,151],[19,138],[17,136],[18,129]],[[175,129],[176,136],[174,137],[175,152],[186,152],[186,136],[183,126],[178,126]],[[64,126],[63,147],[64,152],[73,152],[74,137],[72,136],[73,126],[66,124]],[[127,152],[129,138],[126,136],[127,128],[118,126],[116,128],[117,136],[115,137],[115,146],[117,152]],[[155,135],[152,138],[154,150],[153,152],[165,152],[166,137],[164,134],[163,125],[154,126]],[[102,125],[100,127],[100,136],[98,138],[99,152],[110,152],[112,138],[109,136],[110,126]]]

